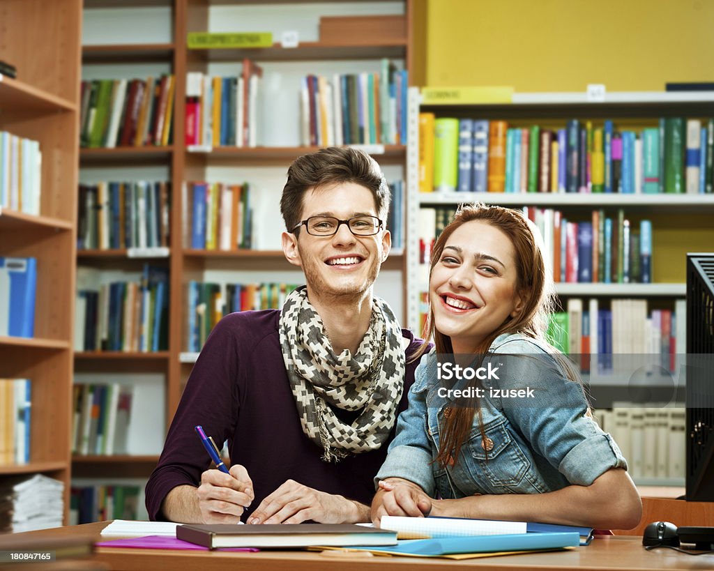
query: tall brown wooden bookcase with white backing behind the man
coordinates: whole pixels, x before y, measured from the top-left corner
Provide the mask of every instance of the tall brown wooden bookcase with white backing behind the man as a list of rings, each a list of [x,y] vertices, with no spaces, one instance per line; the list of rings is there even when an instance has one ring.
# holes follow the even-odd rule
[[[267,4],[267,5],[266,5]],[[145,262],[162,265],[169,275],[169,333],[166,350],[149,353],[76,351],[77,375],[91,382],[91,375],[150,375],[163,378],[160,403],[163,441],[168,423],[181,398],[196,354],[186,352],[186,288],[191,280],[202,282],[283,282],[301,283],[301,273],[284,258],[279,233],[282,218],[278,202],[289,164],[317,146],[304,146],[298,106],[299,79],[310,73],[334,74],[377,71],[382,58],[396,59],[411,71],[418,57],[412,29],[416,5],[421,0],[398,1],[287,1],[260,0],[137,0],[126,2],[86,0],[82,64],[83,79],[145,78],[171,73],[176,77],[172,141],[164,146],[80,148],[80,182],[122,181],[144,178],[171,181],[170,240],[166,251],[149,258],[130,258],[126,249],[78,250],[76,265],[106,276],[140,271]],[[423,6],[422,6],[423,7]],[[277,9],[277,10],[276,10]],[[323,16],[388,15],[401,22],[403,36],[384,39],[368,33],[341,39],[320,39],[319,20]],[[423,14],[418,14],[423,17]],[[186,37],[192,31],[272,31],[275,43],[265,49],[188,49]],[[283,31],[298,34],[296,48],[283,48]],[[338,34],[339,35],[339,34]],[[348,39],[344,39],[348,38]],[[186,74],[200,71],[211,76],[240,74],[241,61],[249,58],[263,67],[265,108],[258,118],[263,131],[256,147],[186,146]],[[78,79],[79,81],[79,79]],[[272,83],[271,83],[272,82]],[[411,76],[410,76],[411,82]],[[275,86],[281,89],[276,91]],[[286,91],[286,94],[280,91]],[[293,101],[294,100],[294,101]],[[261,144],[262,143],[262,144]],[[376,144],[366,146],[386,171],[388,181],[406,176],[406,146]],[[159,177],[159,178],[156,178]],[[259,206],[255,211],[256,231],[262,240],[256,249],[231,251],[203,250],[186,241],[186,208],[190,206],[183,186],[188,181],[251,184]],[[252,198],[251,198],[252,200]],[[144,253],[145,255],[148,255]],[[141,253],[140,253],[141,256]],[[406,266],[403,251],[393,251],[383,265],[376,293],[388,300],[398,315],[404,315]],[[188,356],[187,356],[188,355]],[[119,378],[119,377],[117,377]],[[84,382],[78,380],[78,383]],[[98,382],[101,382],[99,380]],[[124,382],[124,381],[122,381]],[[136,395],[135,395],[136,397]],[[155,421],[156,419],[154,419]],[[70,427],[71,428],[71,427]],[[75,455],[73,474],[83,479],[117,473],[128,477],[148,477],[156,462],[154,453],[116,456]],[[93,462],[91,458],[101,458]]]

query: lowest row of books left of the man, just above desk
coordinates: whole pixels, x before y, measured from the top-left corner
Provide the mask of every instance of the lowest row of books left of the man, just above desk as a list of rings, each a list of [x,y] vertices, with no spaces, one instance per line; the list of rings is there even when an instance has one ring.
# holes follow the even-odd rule
[[[106,520],[139,519],[137,485],[72,486],[69,497],[69,525]]]

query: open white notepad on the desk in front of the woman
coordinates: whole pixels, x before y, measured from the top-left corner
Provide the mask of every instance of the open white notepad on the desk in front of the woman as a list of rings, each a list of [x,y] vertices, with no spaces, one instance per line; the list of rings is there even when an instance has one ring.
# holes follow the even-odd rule
[[[404,517],[401,515],[383,515],[379,527],[383,530],[396,531],[398,533],[397,538],[400,540],[526,533],[526,522],[462,520],[458,517]]]

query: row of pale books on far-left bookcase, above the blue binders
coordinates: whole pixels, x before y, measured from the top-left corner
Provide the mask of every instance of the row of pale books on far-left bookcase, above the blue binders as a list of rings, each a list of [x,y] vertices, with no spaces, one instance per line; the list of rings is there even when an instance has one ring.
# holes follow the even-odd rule
[[[39,216],[41,191],[39,141],[0,131],[0,208]]]

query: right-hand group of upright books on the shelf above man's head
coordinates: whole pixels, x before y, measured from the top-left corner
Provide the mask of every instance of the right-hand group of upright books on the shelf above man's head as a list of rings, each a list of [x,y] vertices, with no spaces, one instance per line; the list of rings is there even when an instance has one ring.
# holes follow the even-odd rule
[[[407,71],[388,59],[379,73],[304,77],[303,145],[405,145],[407,87]]]

